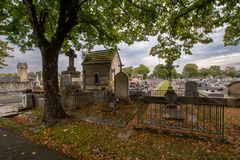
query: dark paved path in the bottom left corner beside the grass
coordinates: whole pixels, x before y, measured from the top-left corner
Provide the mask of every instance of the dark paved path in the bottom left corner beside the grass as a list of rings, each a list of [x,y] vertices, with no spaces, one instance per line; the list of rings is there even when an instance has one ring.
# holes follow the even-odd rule
[[[0,160],[70,160],[42,145],[0,128]]]

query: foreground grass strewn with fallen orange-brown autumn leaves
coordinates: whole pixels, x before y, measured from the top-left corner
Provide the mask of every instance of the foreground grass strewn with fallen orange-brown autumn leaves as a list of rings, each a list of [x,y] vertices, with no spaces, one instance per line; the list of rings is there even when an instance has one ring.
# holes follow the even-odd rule
[[[29,111],[26,111],[29,112]],[[126,141],[121,128],[70,118],[54,126],[41,123],[41,110],[33,121],[23,116],[0,118],[0,126],[76,159],[237,159],[240,158],[240,109],[225,109],[225,143],[134,130]]]

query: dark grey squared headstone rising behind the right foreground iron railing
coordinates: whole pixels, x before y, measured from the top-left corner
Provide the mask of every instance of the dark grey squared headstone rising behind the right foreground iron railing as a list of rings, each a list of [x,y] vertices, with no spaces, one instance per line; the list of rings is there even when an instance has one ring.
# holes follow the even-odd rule
[[[185,83],[185,96],[196,97],[198,96],[198,83],[195,81],[187,81]]]

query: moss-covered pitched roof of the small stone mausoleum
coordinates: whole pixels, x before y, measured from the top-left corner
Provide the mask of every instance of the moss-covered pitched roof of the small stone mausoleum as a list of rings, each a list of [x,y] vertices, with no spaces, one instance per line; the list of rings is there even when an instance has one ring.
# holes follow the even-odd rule
[[[111,62],[116,53],[117,51],[112,49],[92,51],[86,55],[82,64]]]

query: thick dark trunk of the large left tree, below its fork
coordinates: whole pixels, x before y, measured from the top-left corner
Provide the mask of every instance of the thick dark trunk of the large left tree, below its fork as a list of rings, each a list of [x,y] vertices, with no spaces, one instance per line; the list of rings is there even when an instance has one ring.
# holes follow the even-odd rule
[[[44,115],[43,121],[55,123],[58,119],[65,118],[61,105],[61,98],[58,86],[58,53],[51,51],[42,52],[42,70],[44,87]]]

